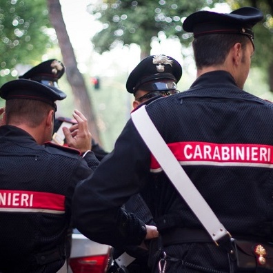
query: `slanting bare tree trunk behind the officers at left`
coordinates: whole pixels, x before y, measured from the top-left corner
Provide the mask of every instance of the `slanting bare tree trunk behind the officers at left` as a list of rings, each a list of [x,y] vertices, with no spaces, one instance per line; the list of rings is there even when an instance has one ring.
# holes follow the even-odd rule
[[[83,76],[77,68],[76,57],[63,21],[63,14],[61,12],[61,4],[59,0],[48,0],[48,10],[50,21],[58,37],[59,47],[61,48],[61,54],[63,56],[63,63],[66,68],[66,77],[68,83],[71,85],[74,95],[75,107],[88,119],[88,126],[92,137],[99,142],[99,130],[97,128],[90,97],[88,97]]]

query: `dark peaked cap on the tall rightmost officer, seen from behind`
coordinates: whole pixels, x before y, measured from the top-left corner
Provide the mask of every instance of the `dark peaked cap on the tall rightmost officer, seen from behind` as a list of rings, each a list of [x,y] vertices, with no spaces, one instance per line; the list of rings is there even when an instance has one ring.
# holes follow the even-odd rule
[[[253,40],[252,27],[262,19],[261,10],[252,7],[239,8],[230,13],[200,10],[185,19],[183,30],[193,32],[194,37],[206,34],[245,34]]]

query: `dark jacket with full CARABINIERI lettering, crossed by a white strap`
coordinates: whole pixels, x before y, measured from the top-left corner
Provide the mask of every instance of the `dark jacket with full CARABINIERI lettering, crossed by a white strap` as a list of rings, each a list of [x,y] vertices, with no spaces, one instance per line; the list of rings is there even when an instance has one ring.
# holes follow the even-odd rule
[[[228,72],[215,71],[146,109],[225,228],[234,236],[272,239],[272,103],[239,89]],[[100,243],[141,243],[143,222],[121,209],[136,192],[161,234],[174,228],[203,230],[129,120],[114,151],[77,185],[77,227]]]

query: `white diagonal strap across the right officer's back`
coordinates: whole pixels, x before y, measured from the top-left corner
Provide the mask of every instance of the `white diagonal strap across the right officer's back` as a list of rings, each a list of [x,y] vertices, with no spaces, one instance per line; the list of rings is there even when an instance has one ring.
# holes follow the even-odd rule
[[[205,230],[208,231],[212,240],[217,243],[217,241],[223,239],[224,236],[227,236],[229,232],[225,230],[208,203],[195,188],[183,168],[181,168],[179,161],[177,161],[161,134],[159,134],[159,131],[154,126],[154,123],[146,112],[145,105],[132,112],[131,117],[143,141],[148,145],[148,148],[170,181],[172,181],[176,190],[178,190],[185,202],[188,203],[194,214],[196,214]]]

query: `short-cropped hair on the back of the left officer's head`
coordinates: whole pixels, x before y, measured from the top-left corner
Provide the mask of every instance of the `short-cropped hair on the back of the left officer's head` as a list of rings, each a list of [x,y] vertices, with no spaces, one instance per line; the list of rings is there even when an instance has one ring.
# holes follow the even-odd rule
[[[11,99],[6,101],[6,125],[25,123],[34,128],[41,124],[50,110],[54,108],[43,101],[33,99]]]

